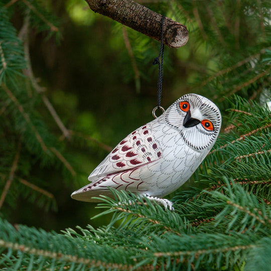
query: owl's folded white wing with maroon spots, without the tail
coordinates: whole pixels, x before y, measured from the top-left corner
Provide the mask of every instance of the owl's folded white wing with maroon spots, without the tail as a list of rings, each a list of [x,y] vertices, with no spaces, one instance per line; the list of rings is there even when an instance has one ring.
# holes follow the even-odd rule
[[[113,173],[123,172],[152,163],[161,157],[161,148],[155,140],[150,124],[134,130],[94,169],[88,180],[97,182]]]

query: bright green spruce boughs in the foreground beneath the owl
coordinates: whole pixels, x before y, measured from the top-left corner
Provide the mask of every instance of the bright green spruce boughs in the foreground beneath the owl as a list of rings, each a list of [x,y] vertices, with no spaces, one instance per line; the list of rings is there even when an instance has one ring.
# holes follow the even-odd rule
[[[9,258],[4,253],[0,262],[11,268],[24,266],[21,270],[64,266],[70,270],[231,270],[245,261],[245,268],[251,270],[256,260],[267,270],[268,256],[265,261],[261,253],[271,241],[270,208],[240,184],[224,182],[223,191],[203,191],[203,199],[182,203],[188,209],[201,205],[202,211],[194,209],[195,217],[202,215],[200,221],[187,218],[178,206],[177,212],[165,211],[148,199],[115,191],[114,200],[103,197],[99,204],[106,208],[100,215],[113,213],[107,227],[78,227],[81,232],[67,229],[56,234],[25,226],[15,229],[1,221],[0,246],[9,250]],[[212,219],[203,216],[210,208],[216,210]],[[114,227],[117,221],[121,223]],[[17,251],[16,256],[12,251]]]

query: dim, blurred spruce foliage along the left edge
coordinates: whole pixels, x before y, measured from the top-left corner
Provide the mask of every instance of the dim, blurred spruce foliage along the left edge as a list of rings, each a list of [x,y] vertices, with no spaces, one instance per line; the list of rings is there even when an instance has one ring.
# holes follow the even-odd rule
[[[28,11],[25,19],[28,23],[20,32],[21,38],[22,32],[25,32],[24,35],[27,36],[30,21],[35,21],[41,27],[40,30],[46,29],[35,20],[37,16],[40,16],[39,20],[43,20],[43,24],[51,25],[44,15],[46,12],[42,12],[37,2],[23,3],[20,3],[20,6],[21,8],[25,6]],[[0,208],[5,202],[2,216],[10,213],[10,207],[17,208],[17,201],[20,198],[46,210],[56,209],[54,195],[39,187],[43,183],[42,176],[39,174],[35,176],[33,172],[37,165],[41,169],[49,170],[54,166],[56,169],[61,168],[63,173],[64,171],[69,171],[71,175],[74,173],[60,153],[62,147],[56,135],[49,131],[48,125],[38,110],[41,94],[34,79],[29,75],[32,70],[27,60],[30,61],[30,59],[25,55],[28,45],[18,38],[17,30],[11,24],[9,16],[8,9],[1,4],[0,190],[2,193]],[[36,24],[33,23],[32,27],[35,26]],[[56,29],[52,27],[51,31],[56,31]],[[32,85],[29,84],[31,80]],[[66,173],[65,175],[68,176]]]

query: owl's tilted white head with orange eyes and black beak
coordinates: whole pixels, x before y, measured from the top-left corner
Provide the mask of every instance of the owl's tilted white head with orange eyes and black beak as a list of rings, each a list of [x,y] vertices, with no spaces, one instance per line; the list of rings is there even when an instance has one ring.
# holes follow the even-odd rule
[[[198,94],[186,94],[163,114],[168,125],[180,131],[184,142],[195,150],[210,149],[221,127],[218,107]]]

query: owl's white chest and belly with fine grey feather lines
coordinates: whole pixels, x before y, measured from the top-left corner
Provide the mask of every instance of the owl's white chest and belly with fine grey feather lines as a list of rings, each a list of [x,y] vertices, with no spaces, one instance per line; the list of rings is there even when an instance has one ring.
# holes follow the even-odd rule
[[[165,124],[163,119],[148,123],[147,128],[152,130],[160,159],[139,168],[130,177],[138,176],[138,179],[144,180],[140,189],[148,188],[150,196],[165,196],[191,177],[207,153],[188,146],[180,131]]]

